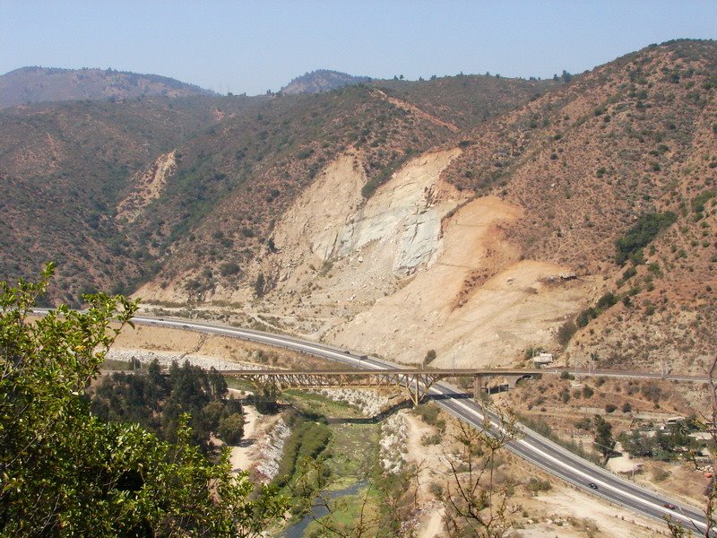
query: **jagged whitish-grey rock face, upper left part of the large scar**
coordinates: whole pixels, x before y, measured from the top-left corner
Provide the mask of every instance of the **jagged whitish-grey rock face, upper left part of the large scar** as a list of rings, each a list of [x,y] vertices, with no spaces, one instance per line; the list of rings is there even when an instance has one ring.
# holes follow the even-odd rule
[[[310,261],[307,251],[321,264],[364,258],[371,247],[374,265],[402,276],[429,265],[440,247],[441,219],[462,200],[438,181],[459,153],[434,152],[410,161],[366,202],[360,194],[366,178],[358,154],[334,161],[277,225],[281,280],[290,278],[298,260]]]

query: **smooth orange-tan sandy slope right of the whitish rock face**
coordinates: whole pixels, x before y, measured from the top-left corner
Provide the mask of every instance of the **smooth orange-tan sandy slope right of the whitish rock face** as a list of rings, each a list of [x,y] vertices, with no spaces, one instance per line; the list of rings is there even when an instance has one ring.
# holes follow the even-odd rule
[[[549,345],[590,283],[546,285],[541,279],[569,269],[518,261],[500,226],[520,214],[496,198],[462,207],[445,225],[436,264],[341,327],[335,341],[403,362],[435,349],[442,367],[505,366],[516,350]]]

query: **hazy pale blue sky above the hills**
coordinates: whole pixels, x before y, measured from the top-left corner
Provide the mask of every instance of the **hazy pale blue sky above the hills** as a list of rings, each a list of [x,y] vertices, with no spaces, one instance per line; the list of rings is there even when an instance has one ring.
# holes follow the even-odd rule
[[[717,0],[0,0],[0,74],[112,67],[250,95],[318,68],[581,73],[676,38],[717,38]]]

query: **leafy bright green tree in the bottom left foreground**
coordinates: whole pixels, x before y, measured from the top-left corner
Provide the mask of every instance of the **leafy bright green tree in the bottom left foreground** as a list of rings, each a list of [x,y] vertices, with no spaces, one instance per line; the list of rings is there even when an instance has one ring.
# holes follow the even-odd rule
[[[31,321],[53,269],[38,283],[0,282],[0,534],[259,534],[286,500],[232,475],[228,452],[204,457],[187,416],[170,444],[91,413],[85,391],[137,301],[99,293],[83,312]]]

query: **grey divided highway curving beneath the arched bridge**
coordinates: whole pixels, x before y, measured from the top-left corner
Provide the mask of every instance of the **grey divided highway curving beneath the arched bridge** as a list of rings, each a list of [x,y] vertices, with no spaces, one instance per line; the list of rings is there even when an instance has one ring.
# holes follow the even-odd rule
[[[324,343],[313,343],[300,340],[291,336],[281,334],[263,333],[251,329],[235,328],[224,325],[213,325],[197,323],[194,321],[183,321],[175,319],[164,319],[156,317],[137,316],[133,321],[143,325],[160,325],[176,327],[180,329],[200,331],[209,334],[220,334],[235,338],[241,338],[257,343],[281,347],[293,351],[300,351],[315,355],[327,360],[338,361],[350,364],[362,369],[394,369],[401,368],[386,360],[377,360],[374,357],[366,358],[365,355],[348,352],[340,348],[326,345]],[[622,375],[622,374],[620,374]],[[635,376],[633,376],[635,377]],[[646,374],[645,377],[661,377],[659,375]],[[484,410],[479,404],[464,398],[451,398],[450,396],[462,395],[452,386],[445,383],[436,383],[430,391],[430,395],[444,396],[445,399],[436,399],[436,404],[441,405],[446,411],[451,412],[457,418],[467,421],[474,426],[481,427],[484,424]],[[495,427],[498,427],[498,418],[488,412],[488,417]],[[664,516],[671,516],[675,521],[684,525],[687,529],[704,535],[706,520],[704,514],[698,509],[682,506],[678,501],[667,499],[657,493],[647,490],[634,482],[619,478],[616,474],[602,469],[583,458],[574,455],[566,448],[560,447],[537,434],[536,432],[521,426],[522,437],[512,441],[508,448],[517,456],[539,466],[544,471],[573,484],[575,487],[593,495],[597,495],[610,502],[617,503],[625,508],[630,508],[644,516],[651,516],[662,520]],[[591,489],[589,483],[596,484],[597,490]],[[665,504],[673,504],[677,508],[671,510]]]

